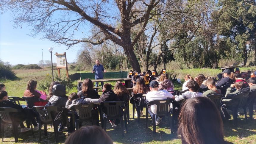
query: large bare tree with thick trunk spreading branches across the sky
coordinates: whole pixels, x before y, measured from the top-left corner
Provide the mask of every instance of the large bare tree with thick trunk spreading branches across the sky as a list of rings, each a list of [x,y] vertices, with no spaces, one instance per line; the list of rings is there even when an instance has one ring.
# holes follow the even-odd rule
[[[146,25],[154,15],[161,15],[164,1],[160,0],[0,0],[1,10],[11,10],[15,26],[27,23],[32,36],[44,33],[47,38],[65,46],[87,42],[99,45],[111,40],[123,47],[132,68],[141,72],[133,51]],[[159,7],[161,5],[161,7]],[[157,8],[158,7],[158,8]],[[157,10],[157,12],[154,12]],[[141,28],[131,40],[132,27]],[[96,26],[98,32],[88,38],[76,37],[85,27]],[[104,34],[104,37],[98,37]]]

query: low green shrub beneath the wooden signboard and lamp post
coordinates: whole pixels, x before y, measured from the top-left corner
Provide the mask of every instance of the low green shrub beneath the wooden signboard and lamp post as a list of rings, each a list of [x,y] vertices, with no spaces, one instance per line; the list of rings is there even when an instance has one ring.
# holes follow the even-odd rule
[[[57,74],[54,75],[54,81],[60,82],[60,84],[66,86],[66,91],[72,89],[74,85],[70,78],[67,78],[65,75],[58,76]],[[47,75],[44,79],[38,82],[38,89],[40,90],[49,90],[50,84],[52,82],[51,74]]]

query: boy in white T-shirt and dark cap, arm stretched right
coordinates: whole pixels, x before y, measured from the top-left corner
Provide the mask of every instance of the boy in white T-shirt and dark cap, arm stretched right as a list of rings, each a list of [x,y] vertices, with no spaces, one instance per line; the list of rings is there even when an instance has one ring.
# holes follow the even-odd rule
[[[158,90],[159,84],[157,81],[152,81],[149,84],[150,92],[146,94],[147,101],[161,100],[167,98],[175,98],[171,93],[166,90]],[[149,110],[154,114],[157,111],[157,106],[154,104],[149,107]],[[162,118],[158,117],[156,120],[156,125],[158,125],[162,121]]]

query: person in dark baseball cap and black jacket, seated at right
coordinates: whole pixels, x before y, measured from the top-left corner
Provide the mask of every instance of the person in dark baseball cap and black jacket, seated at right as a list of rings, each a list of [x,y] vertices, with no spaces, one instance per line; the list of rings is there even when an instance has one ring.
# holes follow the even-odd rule
[[[230,69],[225,69],[221,73],[223,74],[224,78],[216,84],[217,87],[222,87],[227,84],[233,84],[235,82],[234,73],[231,72]]]

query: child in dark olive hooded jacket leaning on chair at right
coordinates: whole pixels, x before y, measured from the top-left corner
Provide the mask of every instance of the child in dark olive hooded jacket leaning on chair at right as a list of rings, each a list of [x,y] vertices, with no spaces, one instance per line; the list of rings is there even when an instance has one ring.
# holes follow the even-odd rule
[[[232,92],[233,88],[236,88],[236,91]],[[238,99],[232,99],[233,96],[239,93],[249,93],[250,88],[248,87],[247,84],[243,82],[236,82],[235,84],[231,84],[229,88],[227,88],[227,93],[225,95],[226,98],[229,99],[223,99],[222,100],[222,107],[221,111],[224,114],[224,117],[226,120],[229,120],[231,117],[228,114],[227,110],[224,107],[235,107],[238,105],[239,100]]]

